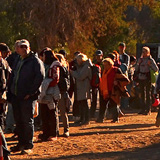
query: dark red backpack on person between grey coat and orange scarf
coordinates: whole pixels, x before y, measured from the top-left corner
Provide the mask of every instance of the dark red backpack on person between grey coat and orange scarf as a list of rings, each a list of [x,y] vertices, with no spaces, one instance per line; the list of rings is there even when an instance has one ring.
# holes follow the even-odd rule
[[[92,78],[91,78],[91,86],[98,87],[101,79],[101,67],[98,64],[93,64],[92,69]]]

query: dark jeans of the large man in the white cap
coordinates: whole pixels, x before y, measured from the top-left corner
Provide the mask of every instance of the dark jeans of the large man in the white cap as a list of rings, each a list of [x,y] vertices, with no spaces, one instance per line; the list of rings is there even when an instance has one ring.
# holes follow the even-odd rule
[[[24,149],[33,148],[33,114],[35,110],[35,103],[36,101],[33,101],[31,98],[21,100],[15,96],[12,99],[13,114],[18,134],[18,145],[24,147]]]

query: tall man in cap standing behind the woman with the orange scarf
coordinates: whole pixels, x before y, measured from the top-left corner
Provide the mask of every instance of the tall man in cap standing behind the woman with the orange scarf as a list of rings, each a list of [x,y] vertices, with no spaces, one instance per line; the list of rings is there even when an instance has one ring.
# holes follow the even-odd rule
[[[126,44],[121,42],[118,46],[119,49],[119,55],[120,55],[120,69],[122,70],[122,73],[128,76],[128,69],[130,65],[130,56],[125,53],[126,50]],[[128,85],[127,85],[128,88]],[[121,98],[121,109],[128,109],[129,108],[129,98],[128,97],[122,97]]]

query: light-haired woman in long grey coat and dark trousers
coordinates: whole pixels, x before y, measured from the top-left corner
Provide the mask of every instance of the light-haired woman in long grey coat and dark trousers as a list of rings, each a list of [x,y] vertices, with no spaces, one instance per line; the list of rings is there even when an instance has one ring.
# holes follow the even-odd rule
[[[90,80],[92,77],[91,62],[87,56],[80,53],[76,57],[77,70],[71,71],[71,75],[76,80],[76,90],[74,91],[77,95],[77,101],[80,109],[80,125],[89,124],[89,107],[87,99],[90,99]]]

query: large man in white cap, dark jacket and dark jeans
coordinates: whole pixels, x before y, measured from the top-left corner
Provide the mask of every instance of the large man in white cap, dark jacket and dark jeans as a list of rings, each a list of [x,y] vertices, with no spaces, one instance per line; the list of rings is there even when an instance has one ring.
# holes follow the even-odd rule
[[[11,147],[11,151],[28,153],[33,148],[33,114],[45,71],[42,61],[30,50],[26,39],[20,40],[18,54],[9,82],[18,134],[18,144]]]

